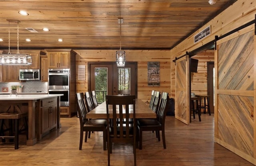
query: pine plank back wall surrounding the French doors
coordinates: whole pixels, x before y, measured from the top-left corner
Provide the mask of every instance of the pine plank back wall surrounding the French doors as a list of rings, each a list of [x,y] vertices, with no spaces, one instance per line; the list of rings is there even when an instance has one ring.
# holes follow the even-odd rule
[[[88,90],[88,62],[116,61],[116,50],[74,50],[76,55],[76,72],[79,64],[86,65],[86,80],[78,81],[77,92]],[[138,62],[138,98],[144,102],[151,98],[151,91],[170,93],[170,50],[125,50],[126,61]],[[148,62],[160,62],[160,86],[148,86]],[[77,75],[77,73],[76,73]]]

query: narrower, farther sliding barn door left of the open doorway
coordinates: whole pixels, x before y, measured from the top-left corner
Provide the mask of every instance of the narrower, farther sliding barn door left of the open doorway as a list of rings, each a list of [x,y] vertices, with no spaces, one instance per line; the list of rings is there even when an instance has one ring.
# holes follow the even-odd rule
[[[188,56],[176,61],[176,102],[175,117],[189,124],[189,58]]]

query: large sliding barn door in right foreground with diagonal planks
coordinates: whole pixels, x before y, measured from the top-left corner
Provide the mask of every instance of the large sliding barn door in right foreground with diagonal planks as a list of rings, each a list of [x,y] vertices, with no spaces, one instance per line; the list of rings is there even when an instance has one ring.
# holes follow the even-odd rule
[[[256,53],[252,26],[217,41],[215,142],[250,162],[256,158]]]

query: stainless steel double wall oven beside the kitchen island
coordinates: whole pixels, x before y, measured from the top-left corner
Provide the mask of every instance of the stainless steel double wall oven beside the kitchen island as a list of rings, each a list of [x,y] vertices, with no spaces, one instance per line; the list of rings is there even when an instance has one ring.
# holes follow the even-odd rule
[[[63,94],[60,96],[60,105],[69,105],[69,69],[49,69],[48,70],[48,93]]]

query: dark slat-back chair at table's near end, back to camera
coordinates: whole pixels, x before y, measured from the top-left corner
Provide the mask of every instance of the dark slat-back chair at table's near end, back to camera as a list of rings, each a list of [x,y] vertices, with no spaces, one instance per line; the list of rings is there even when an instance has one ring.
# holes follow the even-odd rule
[[[109,108],[111,106],[112,109]],[[108,166],[110,166],[112,143],[131,143],[133,145],[134,166],[136,166],[136,121],[133,120],[133,125],[129,125],[129,121],[125,120],[130,118],[129,109],[132,110],[132,118],[135,119],[135,95],[106,96]],[[110,117],[110,113],[113,113],[113,117]]]

